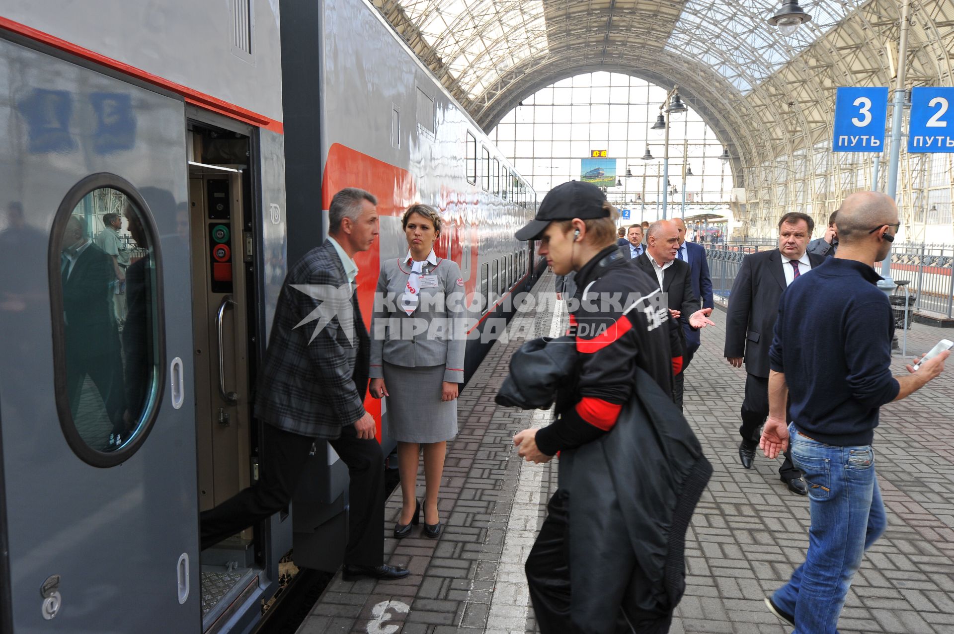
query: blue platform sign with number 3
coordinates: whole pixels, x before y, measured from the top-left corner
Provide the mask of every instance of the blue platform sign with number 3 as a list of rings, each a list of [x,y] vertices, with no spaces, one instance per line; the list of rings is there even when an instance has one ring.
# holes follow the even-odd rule
[[[882,152],[887,115],[888,89],[838,89],[832,152]]]

